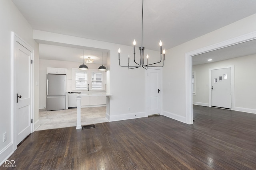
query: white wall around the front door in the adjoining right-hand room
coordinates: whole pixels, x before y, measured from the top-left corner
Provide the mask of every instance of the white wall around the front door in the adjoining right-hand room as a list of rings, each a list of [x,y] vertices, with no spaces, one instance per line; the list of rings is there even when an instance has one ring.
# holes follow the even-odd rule
[[[196,95],[194,104],[209,104],[209,68],[234,65],[234,109],[256,113],[256,55],[249,55],[214,63],[193,66],[196,71]]]

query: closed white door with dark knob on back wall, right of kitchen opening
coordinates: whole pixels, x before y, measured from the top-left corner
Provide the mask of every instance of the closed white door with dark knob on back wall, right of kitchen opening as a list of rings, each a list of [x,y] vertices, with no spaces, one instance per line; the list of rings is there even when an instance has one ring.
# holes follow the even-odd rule
[[[148,69],[148,115],[160,114],[160,70]]]

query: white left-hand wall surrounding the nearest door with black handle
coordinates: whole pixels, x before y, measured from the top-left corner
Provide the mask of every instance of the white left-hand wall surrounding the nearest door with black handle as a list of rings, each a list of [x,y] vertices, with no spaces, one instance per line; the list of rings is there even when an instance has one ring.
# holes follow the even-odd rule
[[[12,56],[11,56],[11,32],[14,31],[16,35],[21,37],[26,43],[35,49],[34,53],[34,76],[38,75],[36,69],[38,68],[38,44],[33,39],[33,31],[28,22],[18,11],[16,6],[11,0],[0,0],[0,89],[2,89],[0,97],[0,164],[2,164],[6,158],[13,151],[12,143],[12,106],[11,106],[11,92],[12,87]],[[38,80],[37,77],[34,80]],[[38,97],[38,87],[34,87],[34,97]],[[37,100],[35,100],[35,103]],[[36,110],[38,105],[35,104]],[[36,119],[36,115],[34,115]],[[38,118],[37,118],[38,119]],[[7,133],[7,141],[3,142],[2,134]]]

